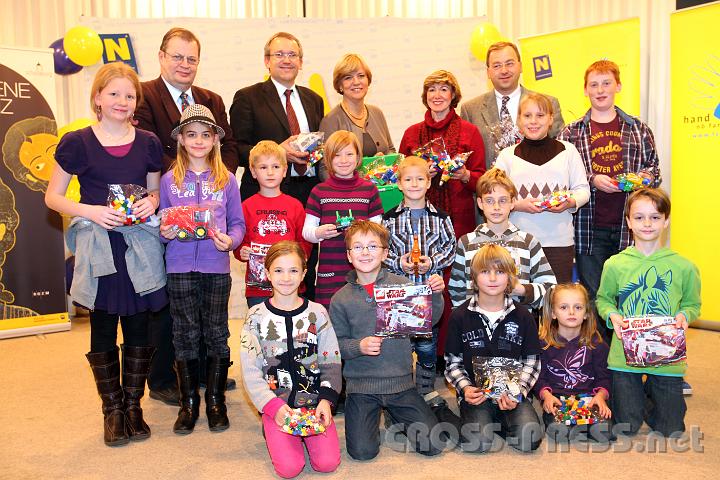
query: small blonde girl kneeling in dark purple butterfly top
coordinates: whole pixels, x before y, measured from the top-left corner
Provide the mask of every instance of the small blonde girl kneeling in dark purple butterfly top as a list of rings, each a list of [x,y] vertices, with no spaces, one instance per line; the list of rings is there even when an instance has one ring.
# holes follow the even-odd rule
[[[596,411],[594,420],[607,420],[612,415],[610,371],[607,368],[608,346],[598,332],[594,310],[585,287],[579,283],[556,285],[545,295],[540,324],[540,356],[542,369],[535,383],[535,392],[543,408],[543,421],[548,436],[567,441],[569,428],[556,423],[555,415],[562,407],[560,397],[584,395],[585,408]],[[597,427],[578,425],[585,435],[606,442],[607,422]]]

